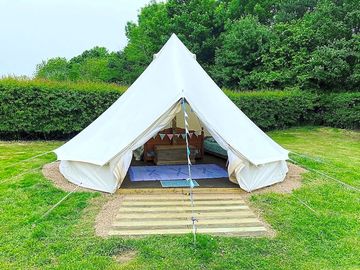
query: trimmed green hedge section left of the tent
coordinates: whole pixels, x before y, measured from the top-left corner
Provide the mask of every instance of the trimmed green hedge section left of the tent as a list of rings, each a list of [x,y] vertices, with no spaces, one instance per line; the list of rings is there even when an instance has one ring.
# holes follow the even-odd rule
[[[104,83],[0,80],[0,136],[64,138],[90,124],[124,91]]]

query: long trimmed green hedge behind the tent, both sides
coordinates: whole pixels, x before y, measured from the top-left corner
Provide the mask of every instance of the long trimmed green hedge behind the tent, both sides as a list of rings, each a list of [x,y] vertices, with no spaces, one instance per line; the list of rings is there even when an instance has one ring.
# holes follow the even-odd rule
[[[0,138],[71,137],[96,119],[125,90],[126,87],[103,83],[1,79]],[[359,93],[326,96],[300,90],[225,90],[225,93],[264,130],[303,124],[359,128]]]

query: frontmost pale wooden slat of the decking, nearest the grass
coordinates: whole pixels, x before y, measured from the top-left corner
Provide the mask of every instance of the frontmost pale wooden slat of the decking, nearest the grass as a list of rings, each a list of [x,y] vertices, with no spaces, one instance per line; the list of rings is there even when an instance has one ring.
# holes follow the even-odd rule
[[[198,228],[197,233],[215,234],[238,234],[249,235],[249,233],[264,234],[266,228],[258,227],[224,227],[224,228]],[[151,229],[151,230],[110,230],[109,235],[135,236],[135,235],[154,235],[154,234],[188,234],[192,233],[192,228],[184,229]]]

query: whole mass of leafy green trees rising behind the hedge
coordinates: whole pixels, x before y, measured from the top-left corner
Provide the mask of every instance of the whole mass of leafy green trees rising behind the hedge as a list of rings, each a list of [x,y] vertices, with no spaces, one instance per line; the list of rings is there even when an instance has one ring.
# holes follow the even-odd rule
[[[43,61],[36,76],[131,84],[172,33],[228,88],[359,85],[359,0],[152,1],[128,22],[122,51]]]

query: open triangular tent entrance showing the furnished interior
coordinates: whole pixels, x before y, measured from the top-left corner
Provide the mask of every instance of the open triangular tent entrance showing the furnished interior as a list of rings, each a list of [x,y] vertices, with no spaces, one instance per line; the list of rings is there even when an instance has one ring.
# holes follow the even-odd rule
[[[163,130],[133,152],[120,188],[189,187],[184,181],[189,178],[187,145],[191,178],[197,188],[238,188],[228,177],[226,151],[210,136],[188,103]]]

